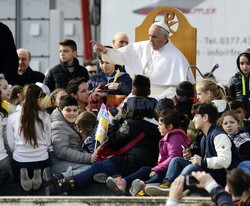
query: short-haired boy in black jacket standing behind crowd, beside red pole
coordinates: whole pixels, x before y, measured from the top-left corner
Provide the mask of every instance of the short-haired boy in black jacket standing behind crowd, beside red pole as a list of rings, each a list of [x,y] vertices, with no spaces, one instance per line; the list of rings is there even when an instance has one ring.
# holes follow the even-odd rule
[[[76,58],[77,45],[75,41],[65,39],[59,45],[61,63],[51,68],[43,81],[50,88],[51,92],[55,88],[66,88],[68,82],[77,77],[84,77],[86,80],[89,80],[87,69],[80,66]]]

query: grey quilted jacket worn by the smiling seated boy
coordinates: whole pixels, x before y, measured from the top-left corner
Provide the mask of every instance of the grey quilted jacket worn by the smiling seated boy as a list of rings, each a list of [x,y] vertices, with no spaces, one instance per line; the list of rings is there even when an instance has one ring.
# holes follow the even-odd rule
[[[51,139],[53,172],[64,172],[69,166],[75,170],[91,163],[91,154],[82,152],[83,140],[80,134],[73,124],[64,119],[58,108],[51,114]]]

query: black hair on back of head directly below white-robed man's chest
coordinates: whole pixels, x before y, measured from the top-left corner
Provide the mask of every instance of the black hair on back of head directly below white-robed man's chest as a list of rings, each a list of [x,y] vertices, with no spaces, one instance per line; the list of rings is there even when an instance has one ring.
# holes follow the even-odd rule
[[[150,94],[150,80],[148,77],[137,74],[132,83],[136,96],[147,97]]]

